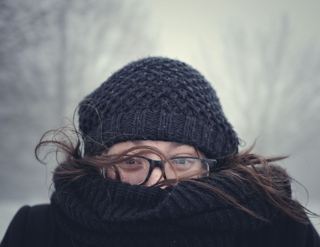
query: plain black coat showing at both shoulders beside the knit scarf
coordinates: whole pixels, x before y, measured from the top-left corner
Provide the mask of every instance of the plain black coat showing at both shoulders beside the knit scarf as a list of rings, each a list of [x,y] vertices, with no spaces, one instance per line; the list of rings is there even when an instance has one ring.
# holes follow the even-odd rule
[[[81,246],[60,230],[50,205],[25,206],[14,216],[1,247]],[[107,246],[107,245],[106,245]],[[174,246],[174,245],[172,245]],[[287,217],[257,231],[238,234],[235,247],[318,247],[320,238],[312,224],[304,225]]]

